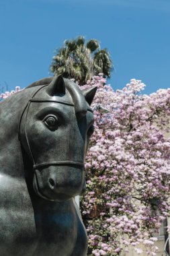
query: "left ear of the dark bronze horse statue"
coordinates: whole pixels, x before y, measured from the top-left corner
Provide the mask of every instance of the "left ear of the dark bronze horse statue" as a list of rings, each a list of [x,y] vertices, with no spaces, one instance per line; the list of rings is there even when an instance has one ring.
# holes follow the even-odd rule
[[[46,91],[50,96],[65,94],[65,82],[64,82],[64,79],[62,78],[62,75],[59,75],[58,77],[54,77],[52,79],[52,82],[50,82],[50,84],[48,85]]]

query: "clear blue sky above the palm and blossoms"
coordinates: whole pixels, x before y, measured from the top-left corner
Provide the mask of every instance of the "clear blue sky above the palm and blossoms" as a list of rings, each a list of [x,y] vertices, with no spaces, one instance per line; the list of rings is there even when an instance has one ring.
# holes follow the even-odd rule
[[[67,38],[97,38],[123,88],[170,87],[170,0],[0,0],[0,84],[22,88],[49,76],[54,49]]]

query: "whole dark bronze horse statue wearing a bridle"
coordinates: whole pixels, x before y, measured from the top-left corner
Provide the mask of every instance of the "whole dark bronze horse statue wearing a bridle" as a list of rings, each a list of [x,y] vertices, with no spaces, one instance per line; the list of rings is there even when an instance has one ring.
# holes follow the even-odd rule
[[[87,255],[74,197],[85,188],[95,91],[49,77],[0,103],[0,255]]]

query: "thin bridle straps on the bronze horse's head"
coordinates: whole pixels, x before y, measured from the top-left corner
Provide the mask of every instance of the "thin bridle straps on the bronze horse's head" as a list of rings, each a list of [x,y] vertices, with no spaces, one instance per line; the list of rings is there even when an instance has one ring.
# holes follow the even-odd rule
[[[25,119],[24,119],[24,136],[26,137],[26,143],[28,146],[28,150],[29,150],[29,154],[30,157],[32,158],[32,163],[33,163],[33,169],[36,170],[36,168],[40,168],[43,166],[51,166],[51,165],[71,165],[71,166],[81,166],[84,168],[84,163],[83,162],[76,162],[76,161],[50,161],[50,162],[42,162],[40,164],[37,164],[34,160],[34,156],[32,153],[32,149],[30,147],[30,142],[28,139],[28,133],[27,133],[27,118],[28,118],[28,111],[30,108],[30,104],[32,102],[56,102],[56,103],[60,103],[60,104],[65,104],[67,106],[75,106],[75,104],[71,104],[69,102],[66,101],[58,101],[58,100],[44,100],[43,98],[34,98],[36,96],[36,94],[44,87],[48,86],[48,84],[42,86],[41,88],[38,88],[38,90],[36,90],[36,92],[34,92],[34,94],[32,95],[32,97],[30,98],[30,100],[28,100],[24,110],[22,111],[22,115],[19,121],[19,127],[18,127],[18,136],[19,136],[19,140],[21,141],[21,135],[20,135],[20,127],[21,127],[21,123],[22,123],[22,119],[24,118],[24,113],[26,112],[25,115]],[[90,112],[93,112],[93,110],[91,110],[90,108],[87,108],[87,110],[89,110]]]

